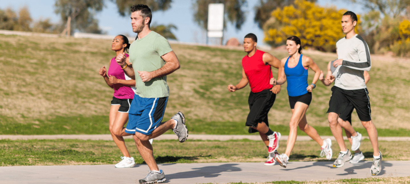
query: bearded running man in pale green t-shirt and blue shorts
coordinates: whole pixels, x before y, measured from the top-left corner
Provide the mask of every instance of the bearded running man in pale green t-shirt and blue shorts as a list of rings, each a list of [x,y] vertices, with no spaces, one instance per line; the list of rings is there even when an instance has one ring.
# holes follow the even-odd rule
[[[132,31],[138,33],[137,40],[130,46],[129,61],[132,68],[125,62],[128,59],[125,53],[116,58],[124,72],[136,81],[134,99],[128,112],[129,120],[124,131],[133,134],[139,154],[150,168],[148,175],[139,180],[139,183],[162,183],[166,181],[165,175],[155,162],[149,139],[173,129],[180,142],[187,140],[188,130],[182,112],[161,123],[169,96],[166,75],[178,70],[180,63],[168,41],[150,30],[150,8],[138,4],[131,7],[131,12]]]

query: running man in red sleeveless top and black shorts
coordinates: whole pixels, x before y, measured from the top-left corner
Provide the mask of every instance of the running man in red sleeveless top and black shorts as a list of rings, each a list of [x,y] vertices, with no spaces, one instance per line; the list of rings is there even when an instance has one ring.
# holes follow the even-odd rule
[[[251,86],[249,94],[250,112],[246,119],[249,133],[259,132],[262,141],[268,147],[268,160],[265,165],[275,164],[276,149],[279,146],[280,133],[269,128],[268,112],[275,102],[276,94],[280,92],[280,85],[272,86],[269,80],[272,77],[271,66],[280,67],[280,60],[267,52],[256,49],[257,37],[247,34],[244,38],[244,50],[248,54],[242,58],[242,79],[237,85],[228,85],[230,92],[235,92]]]

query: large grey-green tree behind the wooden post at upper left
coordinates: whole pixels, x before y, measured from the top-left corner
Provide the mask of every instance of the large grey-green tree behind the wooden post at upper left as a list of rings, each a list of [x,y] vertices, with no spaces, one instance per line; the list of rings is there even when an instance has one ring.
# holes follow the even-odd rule
[[[64,24],[70,25],[71,22],[67,22],[70,19],[73,21],[74,29],[89,33],[102,32],[94,13],[103,10],[103,0],[56,0],[54,6],[55,13],[60,14]],[[74,30],[70,27],[68,29],[69,34]]]

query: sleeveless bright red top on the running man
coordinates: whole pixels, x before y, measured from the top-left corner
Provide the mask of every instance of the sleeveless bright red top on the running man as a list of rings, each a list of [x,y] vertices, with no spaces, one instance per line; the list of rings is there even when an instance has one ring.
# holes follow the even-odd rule
[[[242,67],[248,77],[251,91],[254,93],[273,87],[273,85],[269,84],[269,80],[272,78],[271,65],[265,65],[262,60],[264,53],[263,51],[256,50],[253,56],[248,57],[246,55],[242,58]]]

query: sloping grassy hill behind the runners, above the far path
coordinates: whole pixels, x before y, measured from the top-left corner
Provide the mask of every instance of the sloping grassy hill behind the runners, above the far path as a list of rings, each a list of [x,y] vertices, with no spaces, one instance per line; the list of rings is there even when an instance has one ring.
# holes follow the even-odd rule
[[[0,35],[0,134],[108,133],[113,90],[98,74],[115,56],[111,40]],[[164,119],[179,110],[190,133],[247,134],[250,88],[230,93],[241,78],[242,49],[171,45],[181,69],[168,76],[171,96]],[[277,58],[287,52],[268,51]],[[332,53],[304,51],[321,70]],[[368,83],[372,118],[381,136],[410,136],[410,61],[372,56]],[[313,72],[309,71],[309,80]],[[273,75],[277,76],[276,70]],[[326,110],[330,87],[317,84],[307,121],[331,135]],[[269,112],[271,128],[287,135],[291,116],[286,83]],[[353,126],[364,133],[356,115]],[[380,131],[382,130],[382,131]]]

